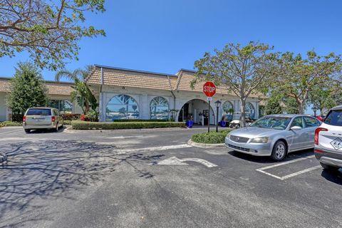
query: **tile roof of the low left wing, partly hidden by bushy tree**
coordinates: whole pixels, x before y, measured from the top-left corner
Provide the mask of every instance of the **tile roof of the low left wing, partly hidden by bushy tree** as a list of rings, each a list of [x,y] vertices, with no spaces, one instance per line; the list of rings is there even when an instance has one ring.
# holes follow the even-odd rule
[[[50,95],[70,95],[73,91],[73,83],[46,81],[45,84]],[[0,92],[11,92],[11,78],[0,78]]]

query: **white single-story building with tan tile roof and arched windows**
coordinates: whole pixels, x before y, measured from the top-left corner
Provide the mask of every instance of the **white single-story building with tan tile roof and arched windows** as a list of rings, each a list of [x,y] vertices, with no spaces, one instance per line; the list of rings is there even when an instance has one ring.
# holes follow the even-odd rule
[[[135,71],[123,68],[95,65],[86,78],[99,103],[100,121],[117,119],[174,119],[185,121],[192,118],[195,123],[205,125],[216,123],[214,102],[222,102],[219,120],[239,118],[239,98],[227,88],[217,86],[210,108],[202,93],[203,83],[190,87],[195,71],[181,69],[176,74]],[[73,83],[46,81],[51,106],[64,113],[81,113],[76,103],[71,103]],[[6,107],[6,94],[11,90],[10,78],[0,78],[0,121],[9,120],[11,110]],[[246,115],[259,118],[258,95],[247,100]]]

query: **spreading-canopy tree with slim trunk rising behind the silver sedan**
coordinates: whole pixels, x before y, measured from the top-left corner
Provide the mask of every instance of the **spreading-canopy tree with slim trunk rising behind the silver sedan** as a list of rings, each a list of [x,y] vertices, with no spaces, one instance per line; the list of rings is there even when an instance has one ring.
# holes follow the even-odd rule
[[[205,53],[203,58],[195,61],[195,79],[191,86],[199,81],[213,81],[215,85],[227,88],[240,100],[240,123],[245,126],[244,108],[247,98],[258,93],[263,83],[271,76],[276,58],[264,43],[250,42],[246,46],[229,43],[222,51],[214,54]]]

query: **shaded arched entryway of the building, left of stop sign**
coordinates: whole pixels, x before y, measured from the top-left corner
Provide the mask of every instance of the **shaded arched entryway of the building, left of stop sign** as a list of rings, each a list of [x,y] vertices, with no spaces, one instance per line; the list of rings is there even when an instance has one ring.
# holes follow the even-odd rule
[[[178,113],[178,122],[184,122],[190,118],[198,125],[207,125],[210,115],[210,124],[215,124],[215,115],[212,107],[208,110],[208,103],[205,100],[193,99],[185,103]]]

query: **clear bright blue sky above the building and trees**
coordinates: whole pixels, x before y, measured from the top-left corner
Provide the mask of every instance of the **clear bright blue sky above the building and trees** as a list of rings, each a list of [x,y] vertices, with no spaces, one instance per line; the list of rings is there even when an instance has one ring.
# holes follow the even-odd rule
[[[206,51],[225,43],[261,41],[276,51],[342,53],[342,1],[336,0],[107,0],[104,14],[88,14],[87,23],[107,36],[83,38],[79,61],[89,64],[176,73],[193,69]],[[13,76],[18,61],[0,58],[0,76]],[[43,71],[46,80],[55,73]]]

